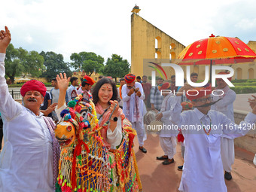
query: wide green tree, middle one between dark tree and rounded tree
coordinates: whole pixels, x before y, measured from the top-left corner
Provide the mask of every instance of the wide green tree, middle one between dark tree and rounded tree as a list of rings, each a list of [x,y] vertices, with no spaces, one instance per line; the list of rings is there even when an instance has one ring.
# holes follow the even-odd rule
[[[88,76],[92,75],[93,72],[99,73],[104,66],[104,58],[93,52],[72,53],[70,59],[72,60],[72,67],[84,70]]]

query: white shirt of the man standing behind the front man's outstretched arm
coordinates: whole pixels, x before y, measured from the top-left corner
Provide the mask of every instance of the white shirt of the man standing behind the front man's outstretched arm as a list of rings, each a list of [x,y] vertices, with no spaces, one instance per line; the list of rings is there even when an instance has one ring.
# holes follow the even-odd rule
[[[236,93],[228,86],[222,90],[225,91],[224,96],[213,96],[214,102],[218,99],[221,100],[216,102],[215,105],[212,105],[211,109],[215,111],[220,111],[221,113],[226,114],[227,117],[230,118],[230,120],[235,121],[233,117],[233,102],[236,100]],[[215,95],[216,94],[218,94],[218,92],[215,92]]]

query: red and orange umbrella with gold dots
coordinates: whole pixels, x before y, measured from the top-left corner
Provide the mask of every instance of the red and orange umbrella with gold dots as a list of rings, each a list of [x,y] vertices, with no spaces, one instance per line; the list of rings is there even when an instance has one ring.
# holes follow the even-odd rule
[[[176,59],[178,65],[212,65],[253,62],[256,53],[239,38],[215,37],[195,41],[181,51]]]

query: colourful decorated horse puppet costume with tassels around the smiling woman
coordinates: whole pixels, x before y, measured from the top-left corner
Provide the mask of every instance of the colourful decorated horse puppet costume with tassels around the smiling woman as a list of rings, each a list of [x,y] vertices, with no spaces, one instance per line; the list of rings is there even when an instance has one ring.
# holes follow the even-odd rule
[[[77,96],[61,117],[55,130],[61,146],[56,191],[142,191],[133,151],[136,131],[129,121],[123,120],[123,139],[113,150],[101,136],[109,120],[99,127],[91,100]]]

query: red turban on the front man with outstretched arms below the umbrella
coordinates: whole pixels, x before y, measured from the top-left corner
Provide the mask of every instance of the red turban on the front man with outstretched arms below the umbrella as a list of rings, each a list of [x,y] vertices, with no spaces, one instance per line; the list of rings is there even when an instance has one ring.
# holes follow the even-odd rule
[[[206,84],[204,87],[194,87],[193,90],[187,90],[187,93],[187,99],[192,101],[194,99],[199,99],[203,96],[210,95],[212,93],[212,86],[210,84]]]

